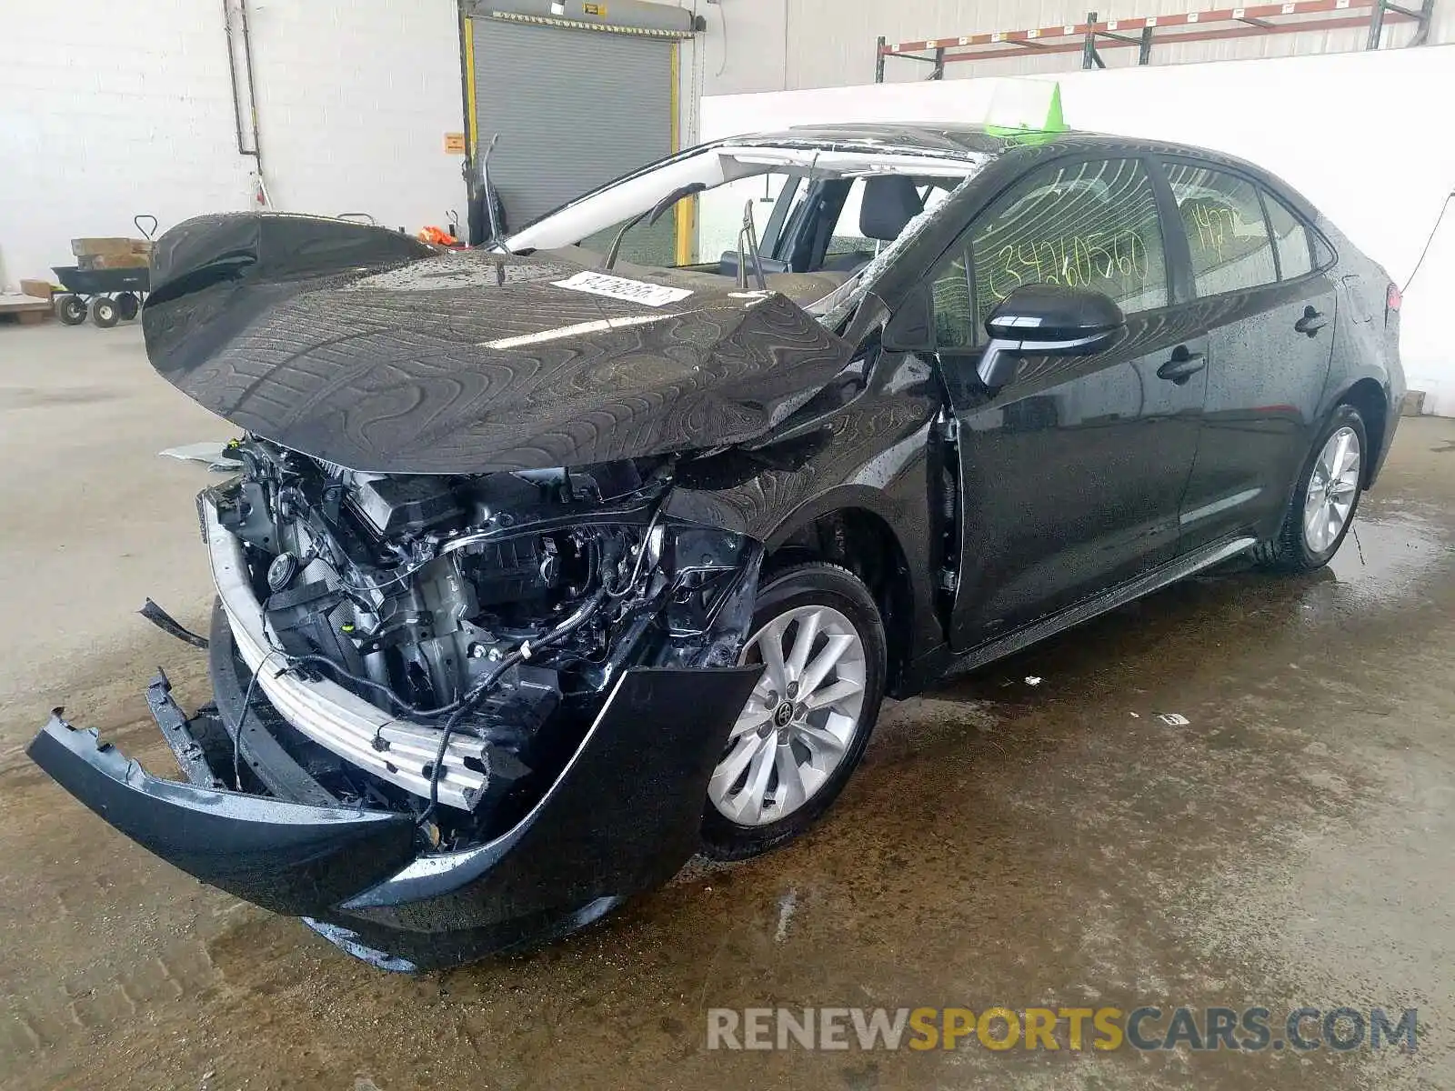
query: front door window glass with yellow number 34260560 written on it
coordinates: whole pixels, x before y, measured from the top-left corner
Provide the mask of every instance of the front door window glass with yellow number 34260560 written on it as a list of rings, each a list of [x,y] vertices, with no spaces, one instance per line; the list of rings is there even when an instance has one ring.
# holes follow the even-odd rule
[[[1016,183],[970,231],[975,291],[963,260],[933,287],[941,346],[970,345],[1023,284],[1090,288],[1136,313],[1167,305],[1157,199],[1139,160],[1052,164]]]

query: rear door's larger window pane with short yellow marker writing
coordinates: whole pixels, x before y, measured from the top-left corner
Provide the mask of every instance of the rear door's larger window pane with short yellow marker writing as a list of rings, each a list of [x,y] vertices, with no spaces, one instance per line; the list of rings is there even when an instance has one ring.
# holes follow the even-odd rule
[[[1273,284],[1273,243],[1259,191],[1221,170],[1168,164],[1177,212],[1187,233],[1197,295]]]

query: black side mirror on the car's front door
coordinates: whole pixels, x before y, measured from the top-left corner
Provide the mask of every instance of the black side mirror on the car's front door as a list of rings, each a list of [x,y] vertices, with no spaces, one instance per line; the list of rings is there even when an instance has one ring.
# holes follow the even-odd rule
[[[1016,377],[1020,356],[1090,356],[1116,340],[1126,317],[1101,292],[1059,284],[1027,284],[985,320],[989,345],[975,368],[989,390]]]

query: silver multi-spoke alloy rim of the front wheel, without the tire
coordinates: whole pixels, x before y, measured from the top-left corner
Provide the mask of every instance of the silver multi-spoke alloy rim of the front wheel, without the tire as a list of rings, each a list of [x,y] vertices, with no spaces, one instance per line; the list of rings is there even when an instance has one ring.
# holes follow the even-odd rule
[[[808,803],[848,754],[864,710],[864,642],[832,607],[797,607],[754,633],[739,662],[764,672],[707,797],[726,819],[762,826]]]

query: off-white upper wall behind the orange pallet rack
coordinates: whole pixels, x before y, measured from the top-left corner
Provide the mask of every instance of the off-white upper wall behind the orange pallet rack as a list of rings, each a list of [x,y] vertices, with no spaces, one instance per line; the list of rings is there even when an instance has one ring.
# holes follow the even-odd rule
[[[736,95],[870,83],[879,35],[893,44],[1080,23],[1091,9],[1100,19],[1132,19],[1231,6],[1222,0],[700,0],[697,10],[707,19],[706,90]],[[1406,6],[1419,7],[1419,0]],[[1368,9],[1334,15],[1368,17]],[[1410,23],[1387,22],[1384,45],[1401,47],[1411,33]],[[1157,45],[1152,64],[1362,49],[1366,38],[1368,31],[1358,28]],[[1436,0],[1429,41],[1455,42],[1455,0]],[[1131,65],[1136,49],[1106,49],[1103,57],[1113,68]],[[949,64],[946,77],[1061,73],[1080,64],[1080,54],[1035,57],[1027,51],[1016,60]],[[925,64],[886,58],[886,81],[914,83],[928,74]]]

